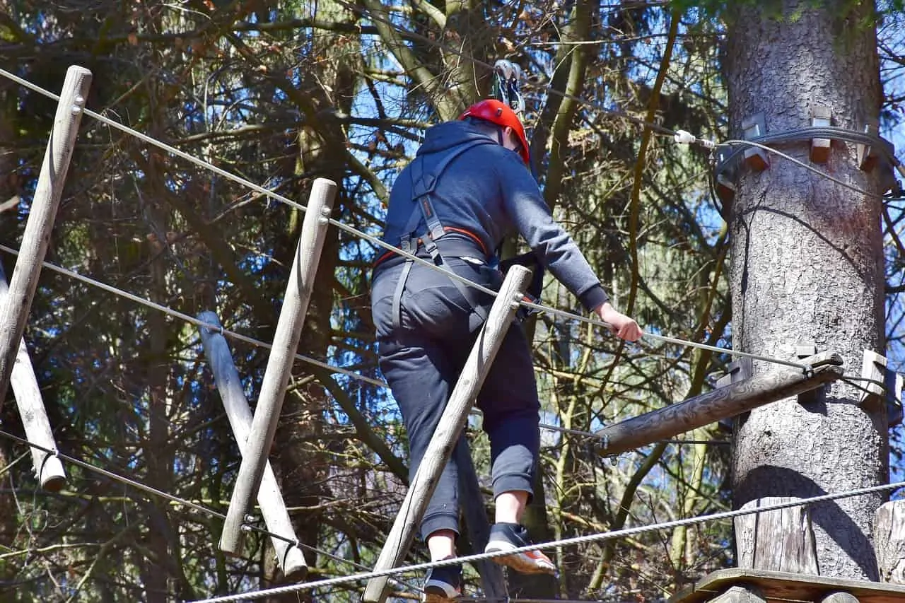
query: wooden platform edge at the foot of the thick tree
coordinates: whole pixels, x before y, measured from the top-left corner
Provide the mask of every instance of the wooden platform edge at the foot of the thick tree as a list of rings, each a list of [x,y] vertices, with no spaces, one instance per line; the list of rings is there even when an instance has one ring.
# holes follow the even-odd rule
[[[839,591],[851,593],[860,603],[905,603],[905,585],[738,568],[708,574],[693,586],[681,589],[669,603],[702,603],[730,587],[743,585],[756,587],[767,601],[781,603],[819,601]]]

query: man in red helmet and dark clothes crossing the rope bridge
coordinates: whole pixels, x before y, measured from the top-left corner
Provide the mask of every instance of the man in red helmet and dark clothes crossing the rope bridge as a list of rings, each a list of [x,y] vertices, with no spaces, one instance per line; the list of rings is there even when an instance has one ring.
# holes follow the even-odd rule
[[[396,179],[383,240],[499,290],[503,277],[494,267],[494,250],[504,236],[518,232],[588,310],[618,337],[638,340],[638,324],[614,310],[585,257],[553,220],[528,163],[528,140],[516,113],[500,101],[478,102],[459,120],[427,130],[414,161]],[[376,262],[371,299],[380,369],[405,419],[414,476],[493,300],[392,252]],[[538,390],[519,325],[503,339],[477,406],[491,442],[496,503],[485,550],[512,550],[529,543],[520,521],[532,495],[540,443]],[[431,560],[456,555],[457,490],[453,458],[421,524]],[[539,551],[495,560],[519,572],[556,571]],[[461,566],[433,570],[424,600],[456,598],[461,581]]]

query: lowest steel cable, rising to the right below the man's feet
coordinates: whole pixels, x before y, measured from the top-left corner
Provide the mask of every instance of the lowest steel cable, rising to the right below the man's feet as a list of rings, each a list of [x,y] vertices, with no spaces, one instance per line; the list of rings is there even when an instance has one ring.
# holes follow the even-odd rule
[[[643,526],[635,526],[633,528],[624,528],[622,530],[614,530],[614,531],[606,531],[600,532],[596,534],[587,534],[585,536],[576,536],[573,538],[562,539],[559,541],[548,541],[541,542],[539,544],[530,544],[528,546],[519,547],[517,549],[512,550],[499,550],[490,553],[479,553],[475,555],[467,555],[463,557],[457,557],[448,560],[442,561],[431,561],[428,563],[417,563],[414,565],[409,565],[401,568],[390,568],[388,570],[377,570],[370,571],[362,574],[355,574],[352,576],[345,576],[342,578],[332,578],[332,579],[323,579],[317,580],[313,582],[306,582],[302,584],[294,584],[291,586],[285,587],[277,587],[274,589],[263,589],[257,590],[253,592],[246,592],[237,595],[227,595],[224,597],[214,597],[214,598],[205,598],[194,601],[193,603],[227,603],[229,601],[248,601],[256,598],[264,598],[271,597],[289,593],[300,592],[302,590],[311,590],[311,589],[319,589],[321,587],[330,587],[338,584],[348,584],[349,582],[357,582],[359,580],[372,579],[372,578],[380,578],[383,576],[393,576],[395,574],[401,574],[411,571],[423,571],[430,570],[432,568],[446,567],[450,565],[458,565],[460,563],[474,563],[475,561],[482,561],[488,559],[494,559],[497,557],[504,557],[507,555],[529,552],[531,550],[543,550],[543,549],[553,549],[557,547],[567,547],[578,544],[585,544],[587,542],[599,542],[599,541],[609,541],[615,540],[617,538],[625,538],[628,536],[633,536],[635,534],[641,534],[648,531],[661,531],[661,530],[671,530],[673,528],[681,528],[690,525],[696,525],[698,523],[704,522],[717,522],[720,520],[732,519],[735,517],[742,517],[744,515],[752,515],[756,513],[762,512],[770,512],[770,511],[780,511],[782,509],[790,509],[792,507],[805,506],[814,503],[825,503],[828,501],[834,501],[842,498],[851,498],[854,496],[864,496],[867,494],[881,493],[887,492],[890,490],[895,490],[897,488],[905,487],[905,482],[896,482],[896,483],[883,483],[881,485],[870,486],[866,488],[857,488],[853,490],[848,490],[841,493],[832,493],[832,494],[822,494],[820,496],[812,496],[810,498],[803,498],[796,501],[787,501],[785,503],[776,503],[776,504],[768,504],[762,507],[750,508],[750,509],[738,509],[736,511],[726,511],[726,512],[718,512],[711,513],[710,515],[699,515],[698,517],[690,517],[681,520],[673,520],[672,522],[662,522],[662,523],[653,523],[650,525]]]

